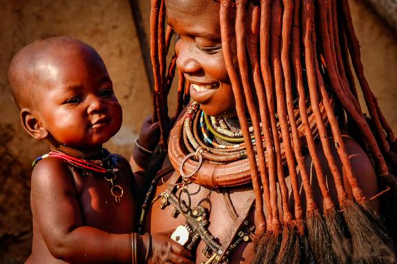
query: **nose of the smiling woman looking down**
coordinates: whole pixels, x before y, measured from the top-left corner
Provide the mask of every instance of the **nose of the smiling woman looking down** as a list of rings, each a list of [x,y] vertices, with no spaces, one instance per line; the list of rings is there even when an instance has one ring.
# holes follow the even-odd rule
[[[175,52],[178,56],[176,67],[183,74],[194,75],[202,71],[200,63],[194,58],[194,51],[190,50],[189,45],[183,39],[176,42]]]

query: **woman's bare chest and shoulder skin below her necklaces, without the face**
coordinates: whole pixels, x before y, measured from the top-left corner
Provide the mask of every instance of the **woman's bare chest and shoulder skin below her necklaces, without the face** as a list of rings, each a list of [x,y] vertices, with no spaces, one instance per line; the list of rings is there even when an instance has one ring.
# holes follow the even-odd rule
[[[360,186],[362,186],[365,196],[367,198],[373,197],[378,192],[378,186],[376,184],[376,175],[374,172],[374,168],[372,168],[371,163],[369,162],[369,159],[367,155],[365,155],[363,149],[360,148],[360,146],[351,137],[344,136],[343,138],[345,140],[345,144],[347,147],[347,153],[349,153],[349,158],[350,161],[352,162],[353,170],[358,175],[358,182]],[[329,141],[330,143],[332,143],[332,139],[329,139]],[[321,144],[316,144],[316,152],[319,155],[318,157],[320,158],[320,163],[321,166],[323,167],[323,172],[325,173],[325,175],[331,175],[331,172],[329,171],[327,165],[327,159],[325,158],[321,148]],[[338,168],[340,170],[341,166],[338,159],[338,154],[336,153],[336,151],[334,151],[333,154],[338,161],[337,162]],[[309,155],[306,155],[303,162],[305,164],[305,168],[307,169],[307,171],[310,172],[312,170],[312,173],[314,173],[312,178],[316,179],[315,171],[312,166],[311,157]],[[169,166],[169,165],[170,165],[169,162],[165,162],[164,164],[164,166]],[[170,177],[171,175],[165,175],[165,177],[163,177],[165,184],[169,183]],[[301,175],[298,172],[298,178],[300,177]],[[327,183],[330,186],[330,190],[329,190],[330,195],[332,196],[333,201],[336,202],[337,195],[336,195],[336,190],[334,188],[334,182],[332,181],[332,177],[327,177],[327,179],[328,179]],[[289,176],[285,177],[285,181],[289,191],[291,191],[291,182]],[[345,182],[347,184],[346,179]],[[314,189],[313,190],[314,199],[316,201],[320,201],[320,199],[322,199],[320,188],[318,187],[317,182],[311,182],[311,183]],[[161,195],[162,192],[167,190],[168,186],[166,186],[165,184],[162,184],[161,181],[159,181],[159,186],[158,189],[156,190],[156,196]],[[298,186],[302,190],[301,181],[298,182]],[[349,188],[347,189],[349,190]],[[212,232],[212,235],[214,235],[215,238],[218,238],[222,243],[223,239],[225,239],[225,234],[227,234],[231,228],[234,228],[235,225],[234,221],[232,220],[232,217],[230,216],[229,210],[227,210],[225,198],[223,197],[222,192],[225,192],[225,190],[222,190],[221,192],[218,192],[217,190],[210,191],[202,186],[196,184],[190,184],[189,191],[192,193],[192,208],[194,206],[197,206],[198,203],[201,203],[205,207],[210,208],[209,230],[210,232]],[[234,208],[236,209],[236,213],[239,215],[241,210],[243,210],[243,207],[247,206],[247,204],[245,203],[245,199],[247,199],[247,197],[252,197],[253,195],[252,187],[246,186],[239,188],[230,188],[228,189],[228,192],[230,192],[230,198],[232,199],[232,203]],[[349,195],[350,197],[352,197],[351,192],[349,193]],[[280,197],[279,192],[278,192],[278,197]],[[303,207],[306,208],[304,198],[305,197],[303,195],[302,197]],[[185,201],[187,200],[185,199]],[[281,210],[280,201],[281,199],[278,199],[279,210]],[[377,201],[374,200],[373,204],[374,207],[376,208]],[[290,204],[290,208],[291,209],[293,208],[293,203]],[[319,209],[323,210],[323,208],[319,208]],[[154,203],[154,205],[152,206],[151,212],[147,214],[148,215],[147,225],[150,226],[150,232],[173,232],[178,225],[183,225],[185,223],[185,217],[179,215],[178,218],[174,219],[174,217],[172,217],[172,210],[174,210],[173,206],[167,206],[164,210],[162,210],[160,200],[156,201],[156,203]],[[252,221],[252,223],[254,223],[255,221],[254,212],[252,211],[250,212],[249,219],[250,221]],[[196,254],[196,263],[201,263],[202,261],[207,260],[207,258],[205,258],[203,254],[201,254],[201,251],[203,250],[204,247],[205,244],[201,241],[201,243],[199,243],[199,247],[197,248],[196,252],[194,252]],[[234,250],[232,257],[230,258],[230,263],[252,263],[254,256],[255,256],[254,243],[243,243],[242,245],[238,246],[236,250]]]

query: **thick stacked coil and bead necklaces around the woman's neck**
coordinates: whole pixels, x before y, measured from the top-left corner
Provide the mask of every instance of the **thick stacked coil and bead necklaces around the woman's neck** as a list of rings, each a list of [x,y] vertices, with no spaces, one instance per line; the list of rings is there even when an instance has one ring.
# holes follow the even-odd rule
[[[327,115],[323,103],[320,102],[320,113],[328,124]],[[207,120],[211,120],[208,117]],[[278,119],[276,117],[276,119]],[[318,137],[318,129],[314,120],[312,106],[307,104],[307,119],[313,137]],[[214,120],[214,118],[212,118]],[[298,109],[295,111],[295,120],[298,133],[303,137],[304,128]],[[244,142],[236,144],[230,140],[230,133],[222,139],[219,132],[213,133],[205,122],[205,113],[199,109],[199,103],[192,101],[187,106],[183,118],[178,120],[170,133],[168,154],[174,168],[179,168],[179,173],[185,180],[190,180],[207,188],[220,188],[241,186],[251,181],[250,164],[247,159]],[[225,120],[218,123],[223,128],[227,127]],[[280,125],[278,137],[281,145],[281,162],[286,164],[284,143],[281,138]],[[212,126],[213,128],[213,126]],[[215,130],[215,129],[214,129]],[[239,132],[232,135],[239,136]],[[217,141],[223,140],[225,144]],[[253,140],[256,153],[256,142]],[[266,151],[266,150],[265,150]],[[266,156],[266,155],[265,155]]]

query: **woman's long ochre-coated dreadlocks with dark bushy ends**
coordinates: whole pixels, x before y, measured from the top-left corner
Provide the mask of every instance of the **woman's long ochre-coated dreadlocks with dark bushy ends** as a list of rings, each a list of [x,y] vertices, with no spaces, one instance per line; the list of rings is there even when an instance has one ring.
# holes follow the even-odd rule
[[[312,259],[316,263],[372,263],[379,258],[385,263],[395,261],[393,246],[354,175],[341,132],[345,126],[359,131],[355,133],[359,137],[357,141],[363,144],[374,162],[380,183],[395,188],[396,179],[390,174],[387,163],[392,169],[396,168],[396,136],[363,74],[348,1],[221,0],[219,14],[223,56],[236,100],[255,193],[255,263],[298,263]],[[167,27],[165,30],[164,21],[164,0],[152,0],[155,119],[160,122],[163,148],[170,129],[167,126],[167,95],[176,67],[174,55],[166,70],[172,29]],[[350,61],[370,119],[365,117],[358,102]],[[179,73],[176,115],[188,102],[189,85]],[[294,100],[298,102],[303,133],[298,130]],[[307,114],[308,104],[312,107],[314,126],[329,166],[329,176],[334,182],[337,201],[331,197],[316,151],[313,124]],[[334,111],[335,104],[340,104],[343,109],[340,118]],[[249,121],[256,144],[251,141]],[[375,133],[371,132],[372,124]],[[332,134],[332,140],[329,140],[329,134]],[[305,167],[303,148],[307,148],[312,159],[313,177],[323,197],[320,201],[314,197],[313,179]],[[283,155],[291,179],[291,194],[285,181]],[[339,160],[343,172],[338,168]],[[299,182],[305,192],[304,202],[299,193]],[[347,184],[353,197],[348,195]],[[293,199],[293,210],[290,199]],[[391,221],[391,218],[387,219]]]

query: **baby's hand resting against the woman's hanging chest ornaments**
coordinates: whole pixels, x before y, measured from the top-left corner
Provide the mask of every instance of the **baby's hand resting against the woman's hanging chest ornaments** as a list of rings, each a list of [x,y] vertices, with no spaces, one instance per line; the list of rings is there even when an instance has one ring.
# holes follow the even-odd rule
[[[162,233],[152,234],[152,254],[147,263],[194,264],[192,254]]]

